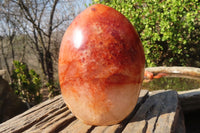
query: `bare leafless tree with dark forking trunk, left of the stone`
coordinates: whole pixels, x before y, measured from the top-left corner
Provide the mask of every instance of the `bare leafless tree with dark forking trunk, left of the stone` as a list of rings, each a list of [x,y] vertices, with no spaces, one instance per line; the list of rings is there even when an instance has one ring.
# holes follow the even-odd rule
[[[32,48],[32,51],[35,52],[52,92],[54,92],[55,88],[54,62],[57,61],[58,56],[58,54],[54,56],[55,53],[53,52],[55,52],[54,48],[57,48],[56,52],[58,52],[58,44],[60,44],[54,32],[61,32],[63,34],[64,31],[60,27],[68,23],[74,16],[73,11],[66,13],[66,10],[70,6],[70,1],[68,2],[68,8],[65,5],[63,5],[65,8],[62,8],[60,3],[59,0],[4,1],[4,5],[13,6],[9,10],[4,10],[4,14],[9,14],[8,21],[16,25],[17,30],[28,37],[28,44]],[[59,10],[58,6],[62,10]],[[15,31],[15,29],[12,30]],[[59,39],[61,41],[61,37]]]

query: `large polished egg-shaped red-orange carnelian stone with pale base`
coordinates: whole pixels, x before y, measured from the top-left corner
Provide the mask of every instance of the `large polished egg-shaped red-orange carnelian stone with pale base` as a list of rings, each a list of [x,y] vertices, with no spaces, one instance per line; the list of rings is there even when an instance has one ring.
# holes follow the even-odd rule
[[[144,50],[131,23],[96,4],[68,27],[59,53],[63,99],[86,124],[111,125],[133,111],[144,75]]]

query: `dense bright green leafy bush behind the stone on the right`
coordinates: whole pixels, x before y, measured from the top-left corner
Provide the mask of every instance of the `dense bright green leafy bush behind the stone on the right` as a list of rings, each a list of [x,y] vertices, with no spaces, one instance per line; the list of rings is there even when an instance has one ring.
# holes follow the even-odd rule
[[[147,66],[197,66],[198,0],[93,0],[94,3],[113,7],[130,20],[141,37]]]

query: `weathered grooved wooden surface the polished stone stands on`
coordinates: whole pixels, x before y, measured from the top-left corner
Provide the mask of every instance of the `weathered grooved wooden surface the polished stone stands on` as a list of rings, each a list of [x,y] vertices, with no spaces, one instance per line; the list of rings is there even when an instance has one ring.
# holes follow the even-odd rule
[[[56,96],[0,124],[0,133],[184,133],[176,91],[141,90],[133,112],[121,123],[91,126],[79,121]]]

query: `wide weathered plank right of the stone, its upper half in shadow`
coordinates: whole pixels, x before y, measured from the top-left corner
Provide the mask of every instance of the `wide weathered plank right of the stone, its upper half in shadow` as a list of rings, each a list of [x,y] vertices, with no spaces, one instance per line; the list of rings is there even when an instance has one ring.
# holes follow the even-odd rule
[[[175,127],[177,110],[178,96],[175,91],[152,92],[123,132],[169,133]]]

